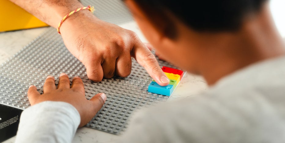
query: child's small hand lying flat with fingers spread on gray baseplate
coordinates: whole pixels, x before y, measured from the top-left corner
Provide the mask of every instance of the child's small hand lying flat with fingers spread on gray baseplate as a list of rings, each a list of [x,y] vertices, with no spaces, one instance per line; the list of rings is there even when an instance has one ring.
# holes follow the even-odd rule
[[[43,94],[41,95],[37,88],[31,85],[28,89],[28,98],[31,106],[43,101],[62,101],[70,103],[80,114],[80,125],[86,125],[101,109],[106,101],[104,93],[98,93],[90,100],[84,95],[84,85],[79,77],[74,77],[70,87],[70,81],[66,74],[62,73],[59,77],[56,88],[54,77],[48,76],[43,85]]]

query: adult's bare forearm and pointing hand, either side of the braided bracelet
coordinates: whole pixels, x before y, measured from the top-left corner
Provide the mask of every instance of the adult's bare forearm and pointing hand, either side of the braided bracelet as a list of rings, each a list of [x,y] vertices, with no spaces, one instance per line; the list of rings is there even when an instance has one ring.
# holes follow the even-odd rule
[[[66,14],[83,7],[78,0],[10,1],[54,28]],[[65,46],[85,65],[88,78],[95,82],[103,77],[128,76],[131,57],[134,57],[159,85],[169,83],[154,55],[134,32],[104,22],[88,10],[69,16],[62,23],[60,32]]]

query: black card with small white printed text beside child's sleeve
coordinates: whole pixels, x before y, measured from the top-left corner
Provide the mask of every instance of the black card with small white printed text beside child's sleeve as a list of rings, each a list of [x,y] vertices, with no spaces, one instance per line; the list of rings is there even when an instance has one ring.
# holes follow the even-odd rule
[[[0,104],[0,142],[17,134],[23,110]]]

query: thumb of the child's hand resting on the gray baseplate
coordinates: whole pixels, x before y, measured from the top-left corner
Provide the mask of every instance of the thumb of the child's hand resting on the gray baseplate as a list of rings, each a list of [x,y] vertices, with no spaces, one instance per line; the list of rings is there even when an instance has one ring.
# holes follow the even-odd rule
[[[104,103],[106,102],[106,95],[105,93],[98,93],[95,96],[93,96],[90,101],[93,103],[93,112],[97,113],[102,106],[104,105]]]

